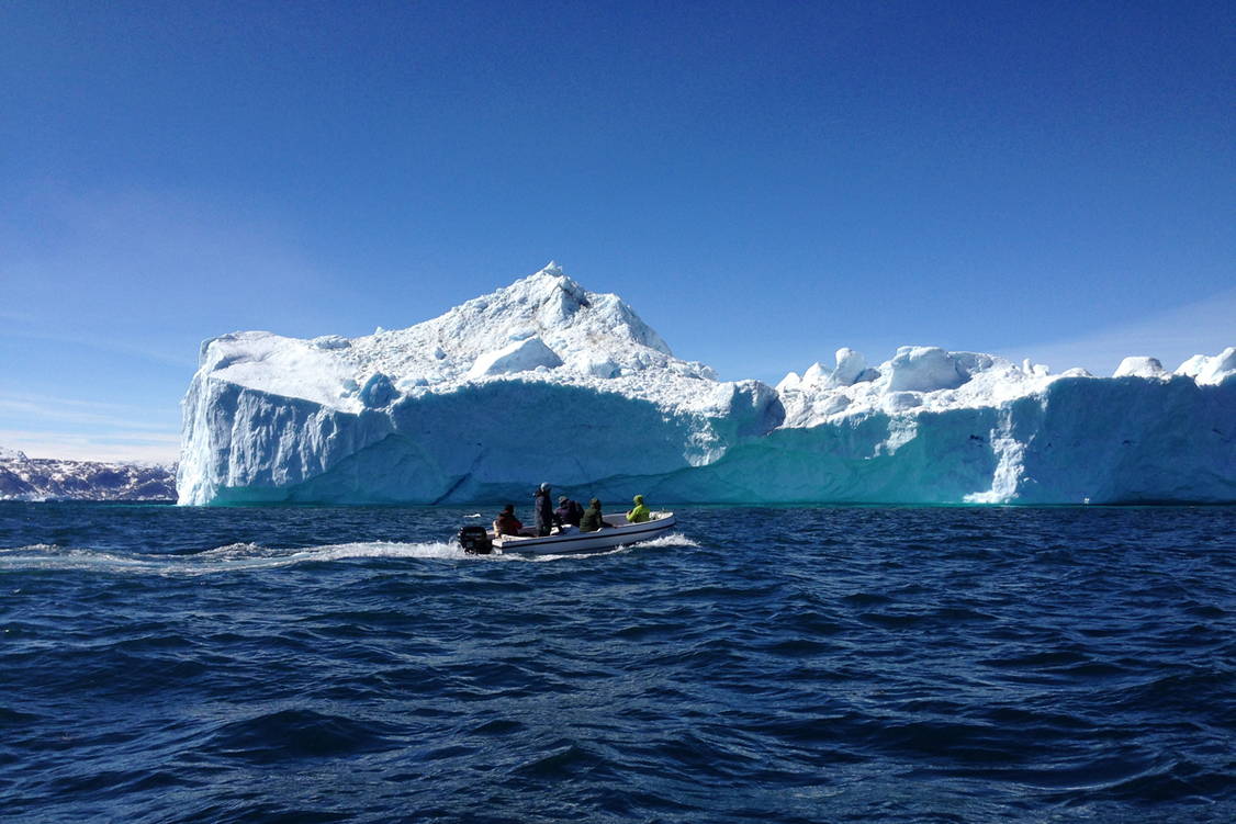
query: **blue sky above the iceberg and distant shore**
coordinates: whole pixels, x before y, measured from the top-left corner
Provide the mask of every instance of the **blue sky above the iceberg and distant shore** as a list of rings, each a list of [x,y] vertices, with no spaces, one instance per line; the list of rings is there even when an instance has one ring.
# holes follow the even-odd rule
[[[0,0],[0,445],[171,457],[201,338],[550,258],[777,380],[1236,343],[1227,2]],[[1048,357],[1054,359],[1048,359]]]

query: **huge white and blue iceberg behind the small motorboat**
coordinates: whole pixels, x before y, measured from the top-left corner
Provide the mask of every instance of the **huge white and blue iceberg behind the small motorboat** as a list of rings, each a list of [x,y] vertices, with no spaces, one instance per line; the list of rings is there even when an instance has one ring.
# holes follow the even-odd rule
[[[404,330],[206,341],[183,504],[1236,500],[1236,347],[1114,377],[852,350],[774,389],[674,357],[550,264]]]

